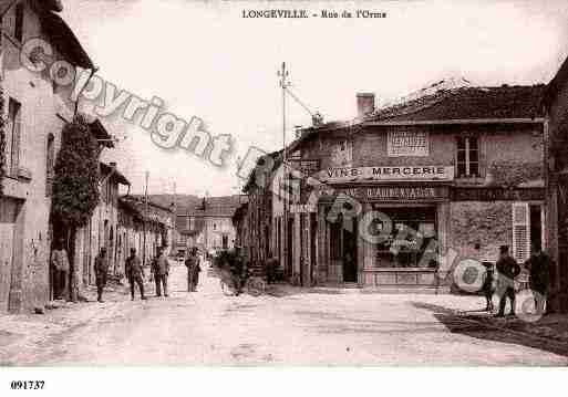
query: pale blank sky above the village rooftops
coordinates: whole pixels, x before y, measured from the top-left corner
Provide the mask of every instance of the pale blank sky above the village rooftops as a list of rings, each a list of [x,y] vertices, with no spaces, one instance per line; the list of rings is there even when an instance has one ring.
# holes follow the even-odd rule
[[[355,115],[355,94],[386,103],[433,82],[473,85],[547,83],[568,56],[568,3],[548,1],[189,1],[64,0],[62,17],[100,67],[99,75],[168,112],[200,117],[213,135],[230,134],[223,168],[185,150],[164,150],[128,122],[103,119],[124,137],[103,159],[116,160],[151,194],[230,195],[242,182],[236,159],[250,146],[282,147],[286,62],[291,90],[326,122]],[[242,10],[302,8],[386,12],[383,19],[250,19]],[[291,98],[287,142],[310,115]]]

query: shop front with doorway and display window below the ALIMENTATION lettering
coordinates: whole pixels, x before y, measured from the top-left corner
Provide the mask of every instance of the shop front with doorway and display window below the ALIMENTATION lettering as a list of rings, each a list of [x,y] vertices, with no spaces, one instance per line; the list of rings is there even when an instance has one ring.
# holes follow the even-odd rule
[[[341,200],[359,206],[357,215],[338,210]],[[335,186],[319,200],[319,279],[380,289],[438,286],[448,208],[450,187],[440,182]]]

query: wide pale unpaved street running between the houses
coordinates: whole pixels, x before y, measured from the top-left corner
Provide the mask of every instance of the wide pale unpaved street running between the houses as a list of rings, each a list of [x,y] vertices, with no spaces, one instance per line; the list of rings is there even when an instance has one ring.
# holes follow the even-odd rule
[[[167,299],[151,291],[147,301],[131,301],[124,286],[103,304],[7,317],[0,365],[568,364],[562,346],[455,314],[479,309],[477,297],[293,289],[225,296],[207,271],[198,291],[188,293],[186,269],[178,264],[169,284]],[[3,331],[10,321],[11,331]]]

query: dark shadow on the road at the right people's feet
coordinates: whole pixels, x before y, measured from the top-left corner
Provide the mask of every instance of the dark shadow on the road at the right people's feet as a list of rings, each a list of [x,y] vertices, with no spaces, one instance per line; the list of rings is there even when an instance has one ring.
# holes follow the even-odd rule
[[[484,341],[527,346],[568,357],[568,344],[523,332],[521,330],[526,324],[519,318],[496,320],[488,314],[456,313],[451,309],[435,304],[423,302],[413,302],[412,304],[416,309],[433,312],[434,317],[452,333]],[[538,326],[538,322],[533,325]]]

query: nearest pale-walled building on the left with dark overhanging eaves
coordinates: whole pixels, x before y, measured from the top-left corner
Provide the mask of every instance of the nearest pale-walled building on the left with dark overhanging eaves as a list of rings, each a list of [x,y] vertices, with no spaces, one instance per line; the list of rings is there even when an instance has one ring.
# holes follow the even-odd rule
[[[50,70],[22,65],[22,44],[41,38],[53,60],[94,69],[68,24],[59,1],[3,1],[0,6],[0,85],[3,93],[6,171],[0,197],[0,311],[19,311],[49,300],[50,182],[65,121],[73,117],[71,87],[53,82]],[[22,55],[22,56],[21,56]]]

